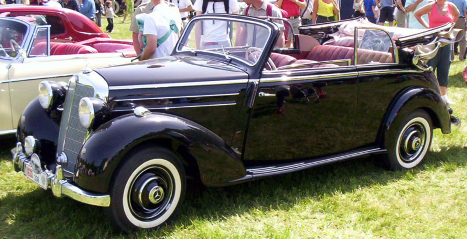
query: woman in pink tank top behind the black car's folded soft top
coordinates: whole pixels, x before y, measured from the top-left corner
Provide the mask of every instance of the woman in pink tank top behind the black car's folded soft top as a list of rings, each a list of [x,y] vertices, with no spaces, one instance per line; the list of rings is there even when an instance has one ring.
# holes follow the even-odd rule
[[[425,14],[428,14],[429,22],[422,18]],[[448,22],[456,22],[459,14],[459,9],[452,2],[436,0],[421,7],[413,15],[425,28],[436,28]],[[430,59],[427,64],[433,67],[433,72],[436,70],[441,97],[447,104],[453,104],[446,95],[449,67],[451,66],[451,44],[439,48],[436,56]]]

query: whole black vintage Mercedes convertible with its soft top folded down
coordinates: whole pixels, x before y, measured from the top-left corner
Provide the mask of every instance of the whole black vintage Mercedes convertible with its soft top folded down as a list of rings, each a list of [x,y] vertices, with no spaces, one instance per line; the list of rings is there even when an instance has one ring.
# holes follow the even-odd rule
[[[452,25],[337,21],[302,27],[290,49],[279,35],[272,21],[206,14],[169,57],[43,81],[14,169],[129,232],[170,220],[187,176],[224,186],[372,154],[410,169],[433,129],[460,122],[425,64],[456,41]]]

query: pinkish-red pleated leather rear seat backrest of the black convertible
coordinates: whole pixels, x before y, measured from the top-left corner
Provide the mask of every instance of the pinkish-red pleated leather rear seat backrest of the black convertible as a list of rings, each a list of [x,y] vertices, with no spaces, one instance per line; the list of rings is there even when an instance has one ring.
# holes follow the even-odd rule
[[[368,64],[370,62],[392,63],[392,54],[389,52],[374,51],[367,49],[358,49],[358,64]],[[354,62],[354,48],[334,45],[319,45],[311,49],[306,56],[307,60],[313,61],[332,61],[351,59]]]

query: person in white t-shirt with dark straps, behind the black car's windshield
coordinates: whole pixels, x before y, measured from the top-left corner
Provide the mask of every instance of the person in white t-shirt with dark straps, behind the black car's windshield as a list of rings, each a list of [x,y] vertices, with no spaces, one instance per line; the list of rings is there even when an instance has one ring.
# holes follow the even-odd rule
[[[203,1],[206,1],[205,4]],[[226,4],[227,1],[228,4]],[[203,5],[205,5],[205,9],[203,9]],[[237,0],[225,0],[225,2],[223,0],[196,0],[193,9],[195,9],[196,15],[205,13],[238,14],[240,5]],[[230,47],[229,31],[231,30],[226,21],[203,21],[203,24],[198,22],[195,28],[196,48]]]

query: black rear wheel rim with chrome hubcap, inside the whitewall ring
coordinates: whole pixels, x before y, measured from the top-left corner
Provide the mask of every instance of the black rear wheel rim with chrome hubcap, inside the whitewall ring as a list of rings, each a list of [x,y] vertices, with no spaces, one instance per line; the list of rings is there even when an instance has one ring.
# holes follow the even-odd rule
[[[417,160],[426,144],[426,129],[424,125],[415,122],[402,133],[399,141],[399,156],[404,162]]]

